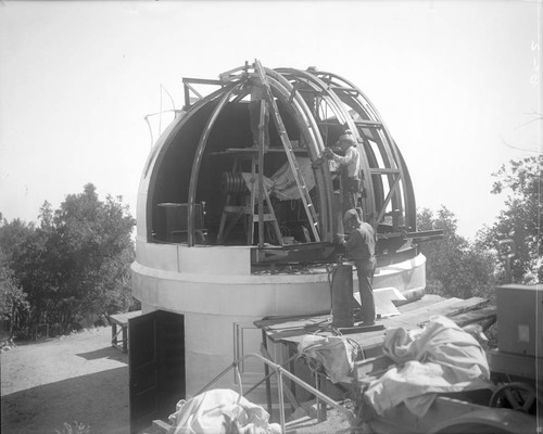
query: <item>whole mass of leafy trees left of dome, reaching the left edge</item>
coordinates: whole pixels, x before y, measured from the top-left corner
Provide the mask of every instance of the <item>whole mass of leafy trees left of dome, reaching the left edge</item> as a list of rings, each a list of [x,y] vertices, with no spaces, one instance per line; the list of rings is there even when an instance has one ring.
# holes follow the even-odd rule
[[[39,226],[1,222],[0,264],[13,270],[27,294],[27,333],[40,323],[66,332],[88,314],[129,310],[134,226],[122,197],[100,201],[91,183],[54,212],[46,202]]]

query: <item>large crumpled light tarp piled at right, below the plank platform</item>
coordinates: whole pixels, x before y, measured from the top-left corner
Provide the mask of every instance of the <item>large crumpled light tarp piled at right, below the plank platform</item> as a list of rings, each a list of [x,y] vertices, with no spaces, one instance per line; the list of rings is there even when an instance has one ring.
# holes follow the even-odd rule
[[[397,365],[365,392],[381,416],[404,403],[415,416],[424,417],[438,393],[493,388],[484,350],[443,316],[431,317],[424,329],[387,331],[383,353]]]

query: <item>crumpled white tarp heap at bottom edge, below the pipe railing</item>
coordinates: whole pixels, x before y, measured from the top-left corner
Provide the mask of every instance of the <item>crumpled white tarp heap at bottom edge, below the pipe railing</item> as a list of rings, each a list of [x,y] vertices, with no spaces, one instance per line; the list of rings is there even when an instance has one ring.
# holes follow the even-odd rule
[[[229,388],[215,388],[177,403],[168,434],[279,434],[269,414]]]

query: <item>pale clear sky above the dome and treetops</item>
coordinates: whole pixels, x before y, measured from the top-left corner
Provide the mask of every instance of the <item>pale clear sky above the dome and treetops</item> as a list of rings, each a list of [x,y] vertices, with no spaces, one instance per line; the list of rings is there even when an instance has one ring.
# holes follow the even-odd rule
[[[541,1],[0,2],[0,212],[36,220],[87,182],[136,214],[160,86],[261,60],[333,72],[377,106],[418,207],[472,238],[491,174],[541,151]],[[169,103],[164,95],[164,107]]]

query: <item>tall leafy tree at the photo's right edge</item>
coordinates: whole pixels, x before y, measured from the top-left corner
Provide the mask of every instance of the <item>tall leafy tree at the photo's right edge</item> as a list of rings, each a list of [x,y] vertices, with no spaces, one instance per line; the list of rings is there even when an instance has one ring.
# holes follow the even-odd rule
[[[507,194],[503,209],[491,227],[478,233],[478,241],[487,248],[498,250],[500,240],[513,239],[516,258],[512,264],[514,282],[543,281],[542,244],[542,178],[543,155],[512,159],[493,176],[493,194]],[[501,278],[505,272],[501,265]]]

